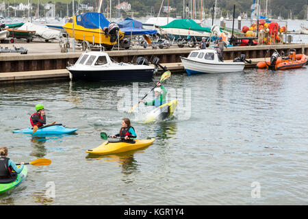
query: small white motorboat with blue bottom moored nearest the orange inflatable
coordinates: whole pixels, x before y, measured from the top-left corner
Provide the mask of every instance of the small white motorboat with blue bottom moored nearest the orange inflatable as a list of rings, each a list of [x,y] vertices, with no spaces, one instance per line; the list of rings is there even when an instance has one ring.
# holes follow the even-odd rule
[[[215,49],[198,49],[191,51],[188,57],[180,57],[188,75],[199,73],[232,73],[244,69],[245,55],[235,58],[233,62],[220,62]],[[249,62],[249,61],[246,61]]]

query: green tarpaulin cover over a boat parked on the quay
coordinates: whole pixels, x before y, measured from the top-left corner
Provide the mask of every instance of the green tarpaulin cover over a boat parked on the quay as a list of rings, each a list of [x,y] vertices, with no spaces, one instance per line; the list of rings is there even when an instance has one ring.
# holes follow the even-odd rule
[[[201,27],[192,19],[177,19],[171,21],[168,25],[160,26],[162,28],[179,28],[179,29],[191,29],[194,31],[203,31],[211,33],[211,27]]]

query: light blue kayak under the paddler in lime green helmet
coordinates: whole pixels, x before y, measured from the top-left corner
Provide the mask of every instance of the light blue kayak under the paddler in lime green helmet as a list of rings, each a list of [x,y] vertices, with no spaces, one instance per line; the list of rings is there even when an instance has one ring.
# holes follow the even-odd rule
[[[61,135],[61,134],[69,134],[77,131],[78,129],[68,129],[63,125],[47,125],[46,127],[39,128],[34,135]],[[21,130],[13,130],[13,133],[25,133],[31,134],[33,133],[32,128],[21,129]]]

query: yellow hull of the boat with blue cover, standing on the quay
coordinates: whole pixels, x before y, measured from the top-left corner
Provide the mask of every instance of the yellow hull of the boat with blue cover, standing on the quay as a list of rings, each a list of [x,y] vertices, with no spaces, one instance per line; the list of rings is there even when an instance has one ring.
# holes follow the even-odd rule
[[[73,18],[72,18],[73,20]],[[106,36],[103,29],[88,29],[85,27],[82,27],[81,25],[77,25],[76,21],[74,21],[74,35],[75,40],[80,41],[88,41],[90,43],[94,44],[106,44],[106,45],[114,45],[118,42],[116,40],[115,42],[110,42],[110,36]],[[73,38],[73,23],[66,23],[62,26],[65,31],[68,33],[68,35]],[[124,38],[124,32],[118,31],[119,38],[122,40]]]

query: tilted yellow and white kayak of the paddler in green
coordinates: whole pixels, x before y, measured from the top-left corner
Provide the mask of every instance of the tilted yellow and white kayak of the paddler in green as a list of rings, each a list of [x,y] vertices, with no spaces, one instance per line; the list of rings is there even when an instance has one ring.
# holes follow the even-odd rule
[[[177,99],[160,105],[146,115],[144,123],[153,123],[155,120],[164,120],[175,112]]]

